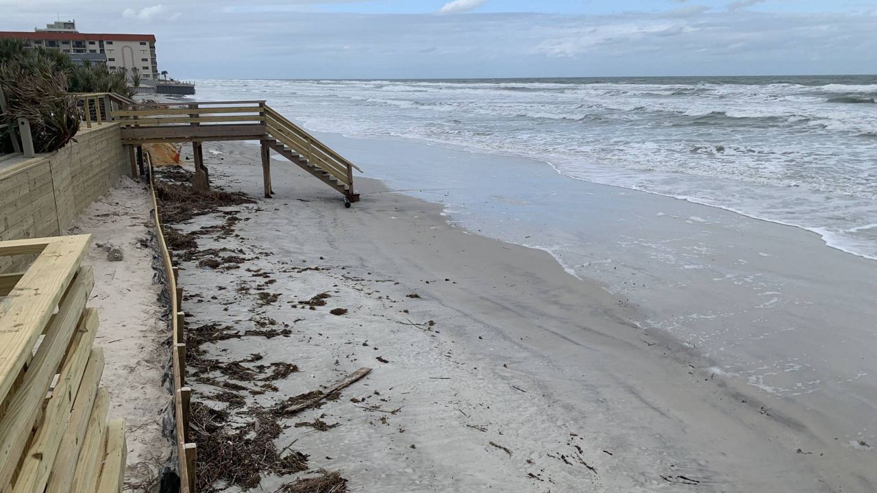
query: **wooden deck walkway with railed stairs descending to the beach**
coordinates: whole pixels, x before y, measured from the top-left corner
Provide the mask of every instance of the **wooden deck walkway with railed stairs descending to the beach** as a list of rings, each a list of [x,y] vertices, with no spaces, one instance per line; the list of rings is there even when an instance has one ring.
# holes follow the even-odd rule
[[[360,200],[360,194],[353,188],[353,170],[361,169],[265,101],[125,104],[122,109],[111,111],[110,116],[122,125],[122,140],[128,146],[132,169],[133,163],[139,162],[143,171],[139,158],[143,144],[191,142],[196,168],[194,182],[206,187],[209,174],[203,164],[203,142],[259,140],[266,197],[273,193],[270,153],[274,150],[338,191],[347,207]]]

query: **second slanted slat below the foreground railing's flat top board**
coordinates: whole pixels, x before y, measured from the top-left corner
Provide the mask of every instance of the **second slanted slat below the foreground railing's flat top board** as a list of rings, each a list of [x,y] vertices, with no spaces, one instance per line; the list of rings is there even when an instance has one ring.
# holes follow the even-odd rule
[[[97,310],[89,308],[88,311],[93,314],[86,314],[75,340],[70,343],[71,351],[68,353],[68,360],[61,367],[58,383],[55,384],[52,397],[46,404],[42,424],[39,425],[30,447],[27,448],[15,480],[15,488],[12,489],[13,493],[43,493],[58,448],[61,446],[61,439],[68,425],[74,425],[68,424],[68,421],[71,418],[70,412],[77,399],[76,393],[80,384],[85,381],[86,387],[90,385],[94,389],[97,388],[97,382],[103,372],[103,351],[99,347],[91,347],[97,332]],[[82,332],[83,329],[85,332]],[[94,397],[94,392],[90,393]],[[90,408],[89,405],[89,410]]]

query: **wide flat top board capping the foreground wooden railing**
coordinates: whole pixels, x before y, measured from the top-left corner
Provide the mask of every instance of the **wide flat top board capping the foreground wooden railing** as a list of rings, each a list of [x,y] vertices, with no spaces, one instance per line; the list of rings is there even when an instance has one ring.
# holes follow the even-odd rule
[[[39,252],[35,246],[45,246],[15,289],[0,300],[0,402],[6,399],[12,381],[52,317],[54,307],[61,301],[90,242],[91,235],[83,234],[36,239],[30,246],[22,241],[0,244],[0,255],[31,254]],[[88,290],[91,289],[90,272],[89,269]]]

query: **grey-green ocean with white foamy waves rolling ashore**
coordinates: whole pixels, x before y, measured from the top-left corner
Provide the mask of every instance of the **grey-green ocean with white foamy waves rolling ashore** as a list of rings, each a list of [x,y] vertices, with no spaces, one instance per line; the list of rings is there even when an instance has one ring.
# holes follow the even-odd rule
[[[816,232],[877,259],[877,75],[205,80],[307,128],[549,163]]]

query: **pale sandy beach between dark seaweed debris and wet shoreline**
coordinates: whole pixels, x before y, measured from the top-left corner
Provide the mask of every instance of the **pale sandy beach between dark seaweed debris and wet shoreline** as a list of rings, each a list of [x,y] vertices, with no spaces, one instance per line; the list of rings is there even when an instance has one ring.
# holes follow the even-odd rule
[[[201,348],[257,375],[299,371],[240,391],[236,407],[211,400],[216,383],[253,384],[204,373],[212,384],[192,377],[194,398],[231,411],[234,428],[253,406],[373,368],[338,400],[281,419],[276,447],[310,455],[311,471],[339,470],[353,491],[873,490],[865,439],[850,447],[794,401],[709,371],[644,330],[629,297],[551,255],[449,225],[441,205],[377,181],[359,179],[363,200],[346,210],[282,161],[261,199],[257,147],[205,149],[214,184],[257,198],[174,226],[222,260],[182,261],[187,324],[272,332]]]

